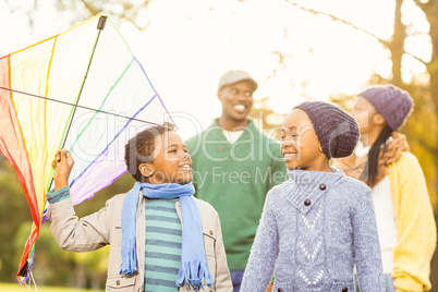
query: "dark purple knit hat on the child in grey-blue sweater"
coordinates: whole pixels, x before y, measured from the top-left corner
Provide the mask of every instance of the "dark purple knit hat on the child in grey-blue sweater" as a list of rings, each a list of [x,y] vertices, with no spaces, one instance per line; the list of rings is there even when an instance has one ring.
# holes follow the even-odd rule
[[[357,122],[340,107],[326,101],[306,101],[304,110],[314,125],[323,153],[330,158],[350,156],[358,141]]]

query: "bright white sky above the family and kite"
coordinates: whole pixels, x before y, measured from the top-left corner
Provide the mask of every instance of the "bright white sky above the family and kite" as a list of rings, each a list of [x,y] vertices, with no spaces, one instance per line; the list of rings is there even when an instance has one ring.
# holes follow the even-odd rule
[[[0,0],[0,56],[80,23],[75,11],[58,12],[54,0],[39,2],[31,28],[20,8],[32,8],[33,0],[14,3],[13,10]],[[294,2],[346,20],[379,38],[392,35],[393,1]],[[428,23],[412,1],[404,2],[403,22],[419,32],[406,41],[405,49],[427,61],[431,51]],[[117,25],[184,139],[220,115],[217,84],[231,69],[250,72],[259,84],[254,98],[270,97],[269,106],[279,113],[307,97],[326,100],[330,95],[354,95],[373,72],[384,77],[390,74],[388,51],[374,37],[285,0],[151,1],[136,22],[144,25],[147,19],[150,25],[144,32],[127,22]],[[280,54],[284,56],[282,64]],[[406,80],[425,71],[410,57],[403,59],[403,65]]]

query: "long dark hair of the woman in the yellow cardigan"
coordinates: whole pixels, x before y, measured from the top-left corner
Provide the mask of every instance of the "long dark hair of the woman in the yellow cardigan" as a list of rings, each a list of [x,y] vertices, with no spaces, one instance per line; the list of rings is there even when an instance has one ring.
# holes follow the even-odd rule
[[[392,130],[389,125],[385,125],[381,130],[379,136],[376,142],[372,145],[372,148],[368,153],[368,160],[366,161],[364,172],[362,172],[360,179],[369,187],[373,187],[376,183],[378,166],[379,166],[379,157],[381,151],[385,154],[387,151],[387,141],[391,136]]]

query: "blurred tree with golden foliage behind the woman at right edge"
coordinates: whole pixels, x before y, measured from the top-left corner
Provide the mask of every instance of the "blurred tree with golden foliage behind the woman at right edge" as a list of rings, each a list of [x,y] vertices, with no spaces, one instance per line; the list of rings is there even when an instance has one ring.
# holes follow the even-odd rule
[[[414,98],[415,111],[410,118],[409,122],[403,129],[403,133],[409,137],[412,151],[418,157],[418,160],[424,169],[426,180],[428,182],[429,195],[433,205],[437,208],[438,205],[438,0],[415,0],[414,2],[422,9],[425,17],[430,24],[429,37],[433,44],[433,51],[430,61],[425,61],[412,52],[405,50],[405,42],[409,38],[415,37],[422,32],[416,32],[412,23],[404,24],[402,22],[402,7],[403,0],[396,0],[394,2],[394,29],[390,39],[381,39],[367,32],[364,28],[357,27],[353,23],[337,17],[330,13],[317,11],[303,7],[291,0],[285,2],[302,9],[307,13],[323,14],[330,17],[334,22],[340,22],[344,25],[351,26],[358,33],[366,34],[381,44],[390,53],[389,58],[392,63],[390,78],[384,78],[378,74],[370,76],[369,84],[385,84],[391,83],[405,90],[407,90]],[[288,57],[288,52],[272,52],[280,54],[280,68],[283,66],[281,60]],[[404,58],[413,58],[417,62],[426,65],[427,73],[414,75],[410,81],[403,80],[403,61]],[[275,74],[273,72],[272,74]],[[348,102],[353,97],[344,97],[338,94],[336,98],[340,104]],[[342,105],[341,105],[342,106]],[[346,108],[349,109],[349,108]],[[427,130],[427,131],[425,131]]]

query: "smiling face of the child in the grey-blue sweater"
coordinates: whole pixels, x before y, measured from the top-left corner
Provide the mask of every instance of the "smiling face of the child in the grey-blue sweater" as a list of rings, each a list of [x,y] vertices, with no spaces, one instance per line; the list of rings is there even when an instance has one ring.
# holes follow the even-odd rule
[[[284,118],[281,141],[281,153],[288,169],[331,171],[305,111],[293,109]]]

